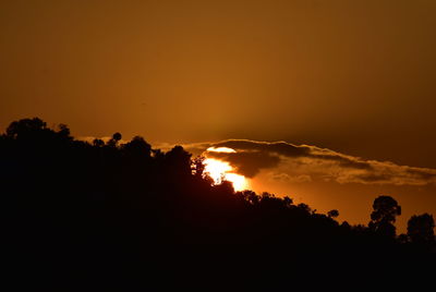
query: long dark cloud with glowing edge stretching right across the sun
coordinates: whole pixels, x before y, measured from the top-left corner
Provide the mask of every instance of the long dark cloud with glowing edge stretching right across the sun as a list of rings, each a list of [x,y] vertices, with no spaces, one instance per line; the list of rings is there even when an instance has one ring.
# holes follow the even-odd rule
[[[338,183],[426,185],[436,183],[436,169],[399,166],[390,161],[365,160],[331,149],[287,142],[228,139],[184,145],[207,157],[228,161],[237,172],[253,178],[264,169],[281,181],[336,181]],[[228,147],[235,153],[207,151],[208,147]],[[280,169],[280,171],[278,171]],[[282,173],[282,174],[280,174]],[[284,175],[286,174],[286,175]],[[288,175],[288,177],[287,177]]]

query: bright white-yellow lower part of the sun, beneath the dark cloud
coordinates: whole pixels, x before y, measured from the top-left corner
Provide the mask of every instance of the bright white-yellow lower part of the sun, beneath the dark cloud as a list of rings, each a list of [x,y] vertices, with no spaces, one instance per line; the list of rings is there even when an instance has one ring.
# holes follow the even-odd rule
[[[206,158],[204,165],[205,173],[214,180],[215,184],[219,184],[222,181],[229,181],[233,184],[234,191],[243,191],[249,187],[249,182],[245,177],[234,173],[234,169],[229,162],[214,158]]]

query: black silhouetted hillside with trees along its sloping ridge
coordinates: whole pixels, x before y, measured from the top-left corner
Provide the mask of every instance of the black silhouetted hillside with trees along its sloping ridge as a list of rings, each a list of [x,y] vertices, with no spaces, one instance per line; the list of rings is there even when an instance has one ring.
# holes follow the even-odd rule
[[[367,226],[339,223],[340,210],[215,185],[203,158],[181,146],[121,141],[78,141],[37,118],[9,125],[0,136],[7,278],[81,290],[431,280],[432,215],[413,216],[397,234],[401,206],[380,195]]]

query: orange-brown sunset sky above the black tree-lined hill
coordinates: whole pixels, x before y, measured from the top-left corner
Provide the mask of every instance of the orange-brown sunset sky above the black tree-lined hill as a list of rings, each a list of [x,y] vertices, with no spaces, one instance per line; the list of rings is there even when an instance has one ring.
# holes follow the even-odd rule
[[[403,231],[436,215],[435,15],[433,0],[1,1],[0,129],[39,117],[182,144],[352,223],[391,195]]]

